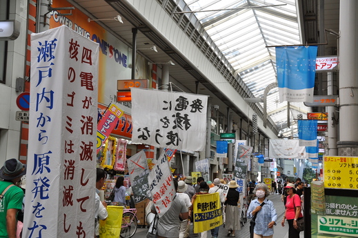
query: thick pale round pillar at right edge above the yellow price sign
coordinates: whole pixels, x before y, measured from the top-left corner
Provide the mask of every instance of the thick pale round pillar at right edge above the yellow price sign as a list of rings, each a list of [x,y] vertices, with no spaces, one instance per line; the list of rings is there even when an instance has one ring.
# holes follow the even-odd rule
[[[338,155],[358,156],[358,1],[340,1]]]

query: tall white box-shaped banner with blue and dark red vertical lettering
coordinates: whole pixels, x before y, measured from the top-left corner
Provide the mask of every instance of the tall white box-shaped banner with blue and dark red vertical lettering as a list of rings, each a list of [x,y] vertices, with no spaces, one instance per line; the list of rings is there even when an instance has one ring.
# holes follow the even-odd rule
[[[31,34],[23,237],[93,237],[99,45],[66,26]]]

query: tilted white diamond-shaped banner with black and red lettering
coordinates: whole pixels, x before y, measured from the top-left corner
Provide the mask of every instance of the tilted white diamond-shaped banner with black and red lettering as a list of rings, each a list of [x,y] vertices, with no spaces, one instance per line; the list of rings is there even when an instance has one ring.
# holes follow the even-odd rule
[[[149,173],[148,181],[155,210],[157,210],[159,217],[161,217],[172,206],[172,200],[177,193],[164,150],[154,163],[155,166]]]

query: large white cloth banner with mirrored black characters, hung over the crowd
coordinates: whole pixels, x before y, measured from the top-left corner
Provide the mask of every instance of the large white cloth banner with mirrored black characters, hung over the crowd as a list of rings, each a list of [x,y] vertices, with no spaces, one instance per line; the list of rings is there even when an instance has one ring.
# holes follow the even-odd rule
[[[132,141],[159,148],[202,151],[208,96],[130,88]]]

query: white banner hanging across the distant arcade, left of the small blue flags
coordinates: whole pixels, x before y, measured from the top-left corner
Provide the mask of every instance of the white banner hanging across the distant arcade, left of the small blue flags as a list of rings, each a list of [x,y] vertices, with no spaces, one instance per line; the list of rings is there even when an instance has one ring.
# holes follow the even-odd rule
[[[270,139],[270,158],[305,159],[305,146],[299,146],[298,139]]]

